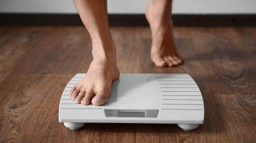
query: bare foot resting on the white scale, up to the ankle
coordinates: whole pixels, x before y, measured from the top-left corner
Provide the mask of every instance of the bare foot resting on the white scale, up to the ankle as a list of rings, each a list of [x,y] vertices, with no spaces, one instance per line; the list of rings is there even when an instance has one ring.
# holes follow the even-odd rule
[[[116,65],[116,53],[107,52],[103,56],[100,56],[98,52],[93,54],[94,60],[86,76],[70,90],[70,98],[75,103],[88,105],[92,102],[99,106],[108,101],[111,83],[118,79],[120,73]]]

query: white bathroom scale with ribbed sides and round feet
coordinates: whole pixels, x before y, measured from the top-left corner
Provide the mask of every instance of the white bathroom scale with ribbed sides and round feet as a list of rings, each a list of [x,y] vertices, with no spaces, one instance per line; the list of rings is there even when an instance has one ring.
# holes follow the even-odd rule
[[[121,74],[102,106],[76,104],[69,91],[84,75],[67,84],[59,103],[59,122],[72,130],[86,123],[178,124],[193,130],[204,122],[204,103],[188,74]]]

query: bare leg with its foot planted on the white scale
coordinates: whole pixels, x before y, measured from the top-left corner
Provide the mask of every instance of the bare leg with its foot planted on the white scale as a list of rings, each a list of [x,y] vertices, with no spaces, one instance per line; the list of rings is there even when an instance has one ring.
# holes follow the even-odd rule
[[[116,47],[111,37],[106,0],[74,0],[78,13],[92,39],[93,61],[84,76],[70,90],[76,103],[103,105],[108,101],[111,83],[118,79]]]

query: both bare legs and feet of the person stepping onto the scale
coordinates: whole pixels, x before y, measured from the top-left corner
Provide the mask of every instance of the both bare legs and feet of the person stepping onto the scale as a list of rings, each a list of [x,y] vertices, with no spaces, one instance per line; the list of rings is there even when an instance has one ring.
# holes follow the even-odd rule
[[[93,61],[84,76],[70,90],[75,103],[103,105],[111,93],[112,81],[119,78],[116,46],[112,39],[106,0],[74,0],[80,18],[92,39]],[[152,31],[151,59],[158,67],[182,63],[173,38],[172,1],[153,0],[146,10]]]

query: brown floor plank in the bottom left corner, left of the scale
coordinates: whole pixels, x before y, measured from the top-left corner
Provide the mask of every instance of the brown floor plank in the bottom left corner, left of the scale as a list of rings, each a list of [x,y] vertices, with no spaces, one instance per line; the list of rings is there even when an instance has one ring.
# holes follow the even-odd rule
[[[0,141],[39,142],[71,77],[59,74],[8,75],[0,83]]]

